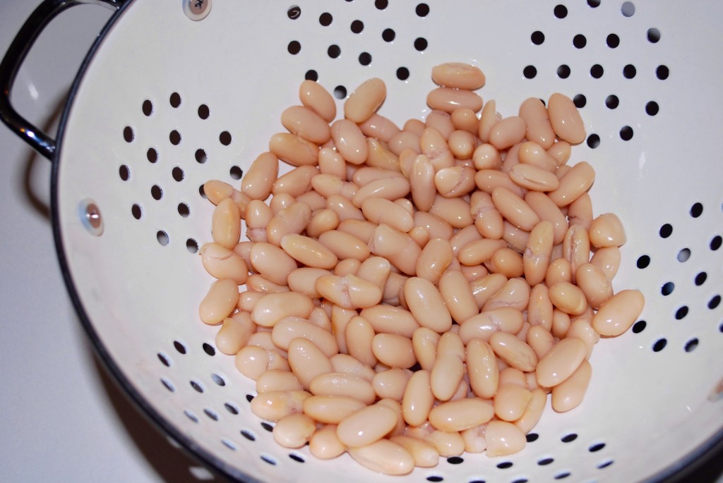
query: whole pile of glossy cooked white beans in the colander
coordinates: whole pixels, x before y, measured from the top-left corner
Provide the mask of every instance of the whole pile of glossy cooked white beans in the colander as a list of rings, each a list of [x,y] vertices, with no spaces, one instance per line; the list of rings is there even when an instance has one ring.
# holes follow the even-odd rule
[[[305,81],[240,190],[204,186],[218,281],[200,318],[256,380],[252,412],[286,448],[387,474],[520,451],[548,394],[578,406],[594,344],[643,309],[612,290],[620,219],[593,217],[594,170],[568,164],[586,138],[573,102],[531,97],[502,118],[475,66],[432,79],[432,110],[403,129],[377,113],[380,79],[338,120]]]

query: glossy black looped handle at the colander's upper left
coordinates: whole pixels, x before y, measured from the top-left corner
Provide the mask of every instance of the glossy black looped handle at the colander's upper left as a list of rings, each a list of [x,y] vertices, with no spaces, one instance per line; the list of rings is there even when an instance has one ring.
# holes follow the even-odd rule
[[[2,62],[0,63],[0,119],[7,124],[11,131],[20,136],[27,144],[30,144],[35,151],[48,158],[53,159],[56,141],[48,136],[41,129],[27,121],[12,107],[10,103],[10,91],[15,82],[17,71],[20,70],[25,56],[37,40],[40,32],[56,17],[71,6],[81,4],[95,4],[119,8],[127,0],[45,0],[30,14],[25,23],[17,32],[7,49]]]

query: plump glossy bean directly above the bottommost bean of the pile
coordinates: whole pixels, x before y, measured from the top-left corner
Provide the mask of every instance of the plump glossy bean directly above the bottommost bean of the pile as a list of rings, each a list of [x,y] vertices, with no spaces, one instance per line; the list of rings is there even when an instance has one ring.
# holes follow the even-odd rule
[[[397,415],[393,409],[374,404],[344,418],[336,428],[336,435],[348,447],[358,448],[380,440],[396,423]]]

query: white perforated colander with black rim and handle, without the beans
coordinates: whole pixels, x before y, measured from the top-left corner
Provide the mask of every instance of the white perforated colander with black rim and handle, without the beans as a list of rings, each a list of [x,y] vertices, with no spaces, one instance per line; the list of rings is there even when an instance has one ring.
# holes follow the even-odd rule
[[[118,10],[54,141],[17,117],[7,92],[35,35],[78,3]],[[395,483],[660,481],[722,442],[722,2],[186,3],[48,0],[0,69],[4,121],[54,158],[56,245],[80,318],[171,438],[233,479]],[[192,4],[208,15],[193,17]],[[571,162],[594,166],[595,214],[615,212],[627,230],[615,290],[640,289],[646,307],[630,331],[597,344],[581,406],[548,408],[521,453],[388,477],[347,455],[288,451],[250,412],[254,383],[215,350],[218,328],[197,317],[213,281],[196,254],[213,210],[200,186],[238,185],[283,131],[305,78],[340,110],[354,87],[382,78],[380,113],[401,126],[429,112],[429,73],[445,61],[479,66],[479,93],[503,116],[526,97],[575,100],[588,139]]]

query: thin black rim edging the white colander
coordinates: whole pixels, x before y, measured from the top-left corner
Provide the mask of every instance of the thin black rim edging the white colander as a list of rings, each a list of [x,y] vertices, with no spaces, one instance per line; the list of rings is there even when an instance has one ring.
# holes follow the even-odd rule
[[[119,384],[119,386],[123,389],[122,392],[126,393],[129,399],[133,401],[133,403],[138,408],[141,409],[142,414],[145,414],[147,419],[150,419],[150,421],[153,422],[155,426],[159,427],[162,432],[165,432],[171,438],[176,440],[176,442],[178,442],[182,447],[184,447],[189,454],[205,463],[205,465],[208,466],[209,469],[213,470],[215,474],[217,474],[217,476],[248,483],[262,483],[261,480],[253,477],[251,474],[239,471],[239,469],[236,469],[236,467],[228,466],[221,459],[216,458],[215,456],[213,456],[212,453],[201,448],[199,445],[197,445],[197,443],[194,443],[193,440],[187,438],[187,436],[180,432],[173,424],[171,424],[171,422],[168,422],[168,420],[165,419],[161,415],[161,413],[159,413],[151,404],[148,403],[148,401],[146,401],[146,399],[141,395],[141,393],[137,391],[131,380],[129,380],[123,373],[121,368],[116,365],[116,362],[113,360],[111,355],[108,353],[108,350],[103,345],[103,341],[100,340],[98,333],[95,331],[95,328],[93,328],[93,323],[87,316],[85,308],[80,301],[80,296],[76,290],[75,284],[69,271],[69,264],[65,256],[65,249],[59,223],[58,204],[58,176],[60,168],[59,159],[62,152],[61,148],[65,134],[64,131],[67,124],[67,118],[75,95],[77,95],[77,90],[80,87],[82,79],[85,76],[85,72],[87,71],[87,68],[90,65],[93,57],[95,56],[95,53],[98,51],[98,48],[100,48],[100,45],[102,45],[103,40],[106,38],[108,32],[112,29],[118,19],[124,14],[126,9],[133,3],[133,0],[129,0],[122,4],[119,9],[112,15],[111,19],[109,19],[106,25],[103,27],[103,30],[101,30],[98,38],[95,39],[93,46],[90,48],[90,51],[88,51],[80,66],[80,69],[78,70],[78,74],[75,77],[72,87],[69,91],[68,98],[61,115],[56,141],[56,152],[51,171],[51,220],[53,225],[53,236],[55,240],[56,253],[61,267],[61,272],[69,293],[69,297],[72,300],[74,308],[78,314],[78,317],[80,318],[80,322],[82,323],[82,326],[85,329],[88,338],[92,342],[95,353],[98,355],[100,360],[103,361],[103,365],[105,365],[106,370],[108,370],[108,372],[113,375],[116,383]],[[705,443],[698,446],[698,448],[696,448],[694,451],[683,456],[683,458],[680,458],[675,463],[670,464],[663,471],[660,471],[658,474],[655,474],[651,478],[647,479],[646,482],[682,482],[683,479],[687,477],[692,471],[709,462],[709,460],[714,456],[716,451],[719,451],[722,448],[723,427],[718,432],[716,432],[715,435],[709,438],[709,440],[706,440]]]

